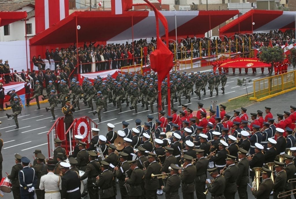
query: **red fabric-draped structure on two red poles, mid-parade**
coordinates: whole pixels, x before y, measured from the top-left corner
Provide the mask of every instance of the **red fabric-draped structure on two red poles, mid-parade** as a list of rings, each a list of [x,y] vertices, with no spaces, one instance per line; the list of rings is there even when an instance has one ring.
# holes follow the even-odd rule
[[[150,7],[153,8],[156,19],[156,38],[157,38],[157,49],[150,54],[150,64],[151,68],[157,72],[158,80],[163,81],[164,77],[168,75],[173,68],[173,53],[168,49],[168,21],[161,14],[156,7],[151,4],[148,0],[144,0]],[[165,29],[165,42],[166,46],[160,39],[159,35],[159,22],[163,24]],[[158,111],[162,109],[161,107],[161,84],[158,84]],[[170,83],[168,83],[168,115],[170,115]]]

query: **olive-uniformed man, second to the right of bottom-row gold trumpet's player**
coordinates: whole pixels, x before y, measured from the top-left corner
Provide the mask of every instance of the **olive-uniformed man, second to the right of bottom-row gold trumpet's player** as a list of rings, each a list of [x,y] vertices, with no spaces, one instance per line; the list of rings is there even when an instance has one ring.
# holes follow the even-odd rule
[[[195,168],[196,168],[196,176],[195,176],[195,192],[198,199],[205,199],[205,181],[207,175],[207,158],[204,157],[204,150],[195,149],[196,159]]]

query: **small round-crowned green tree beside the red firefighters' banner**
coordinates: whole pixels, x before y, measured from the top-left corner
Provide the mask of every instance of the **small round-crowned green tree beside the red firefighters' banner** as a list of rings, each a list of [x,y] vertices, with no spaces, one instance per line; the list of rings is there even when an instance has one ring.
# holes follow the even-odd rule
[[[274,71],[274,63],[284,61],[284,50],[281,47],[261,47],[259,59],[261,62],[271,64],[269,76]]]

